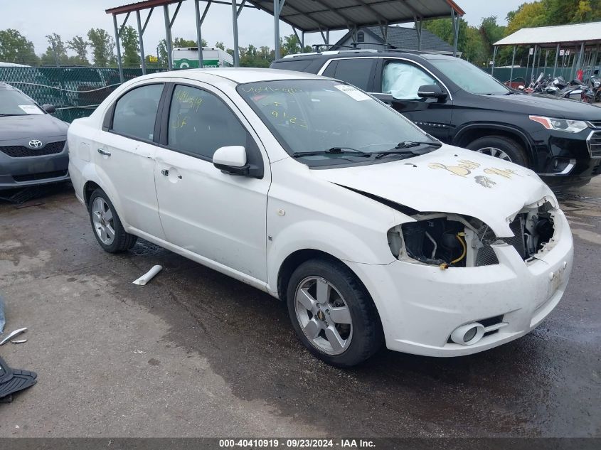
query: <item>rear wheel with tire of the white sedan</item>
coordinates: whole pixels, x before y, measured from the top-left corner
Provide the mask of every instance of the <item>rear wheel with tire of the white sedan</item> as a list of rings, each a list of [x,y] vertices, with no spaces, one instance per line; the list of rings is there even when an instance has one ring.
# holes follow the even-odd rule
[[[92,192],[88,212],[96,240],[105,252],[119,253],[135,245],[137,236],[125,231],[105,191],[99,188]]]

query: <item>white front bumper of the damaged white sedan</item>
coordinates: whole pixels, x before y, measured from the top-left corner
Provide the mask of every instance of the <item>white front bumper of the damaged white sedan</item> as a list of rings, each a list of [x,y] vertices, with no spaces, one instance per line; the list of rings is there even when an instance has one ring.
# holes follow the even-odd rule
[[[524,262],[509,245],[494,245],[499,264],[438,267],[396,261],[347,262],[371,293],[390,350],[428,356],[477,353],[519,338],[541,323],[563,296],[573,264],[565,215],[555,216],[553,248]],[[473,345],[450,342],[455,328],[502,316],[503,328]]]

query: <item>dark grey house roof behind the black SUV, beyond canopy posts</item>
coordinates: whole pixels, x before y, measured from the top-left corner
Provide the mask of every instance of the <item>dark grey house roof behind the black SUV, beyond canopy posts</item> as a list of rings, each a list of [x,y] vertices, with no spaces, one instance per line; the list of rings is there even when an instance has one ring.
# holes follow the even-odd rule
[[[371,33],[382,43],[385,42],[384,36],[382,34],[382,28],[379,26],[364,27],[361,28],[360,31],[366,31],[368,33]],[[417,30],[415,28],[406,28],[403,26],[389,26],[387,34],[388,44],[392,45],[392,48],[417,50]],[[343,38],[341,38],[340,41],[336,43],[336,45],[341,45],[351,35],[351,32],[346,33],[346,35]],[[421,50],[452,53],[453,46],[450,43],[447,43],[447,41],[442,41],[442,39],[436,36],[434,33],[422,29]]]

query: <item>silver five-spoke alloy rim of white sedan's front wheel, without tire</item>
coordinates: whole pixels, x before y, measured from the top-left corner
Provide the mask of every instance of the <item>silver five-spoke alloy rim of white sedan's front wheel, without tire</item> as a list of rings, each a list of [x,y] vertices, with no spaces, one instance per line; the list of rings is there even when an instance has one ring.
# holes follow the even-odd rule
[[[297,286],[294,310],[304,336],[318,350],[340,355],[351,345],[351,311],[338,289],[326,279],[303,279]]]

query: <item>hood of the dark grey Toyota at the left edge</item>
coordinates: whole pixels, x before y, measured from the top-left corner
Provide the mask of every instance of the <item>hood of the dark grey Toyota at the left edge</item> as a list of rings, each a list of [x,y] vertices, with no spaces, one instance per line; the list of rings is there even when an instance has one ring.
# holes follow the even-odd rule
[[[0,141],[66,136],[68,124],[50,114],[0,117]]]

